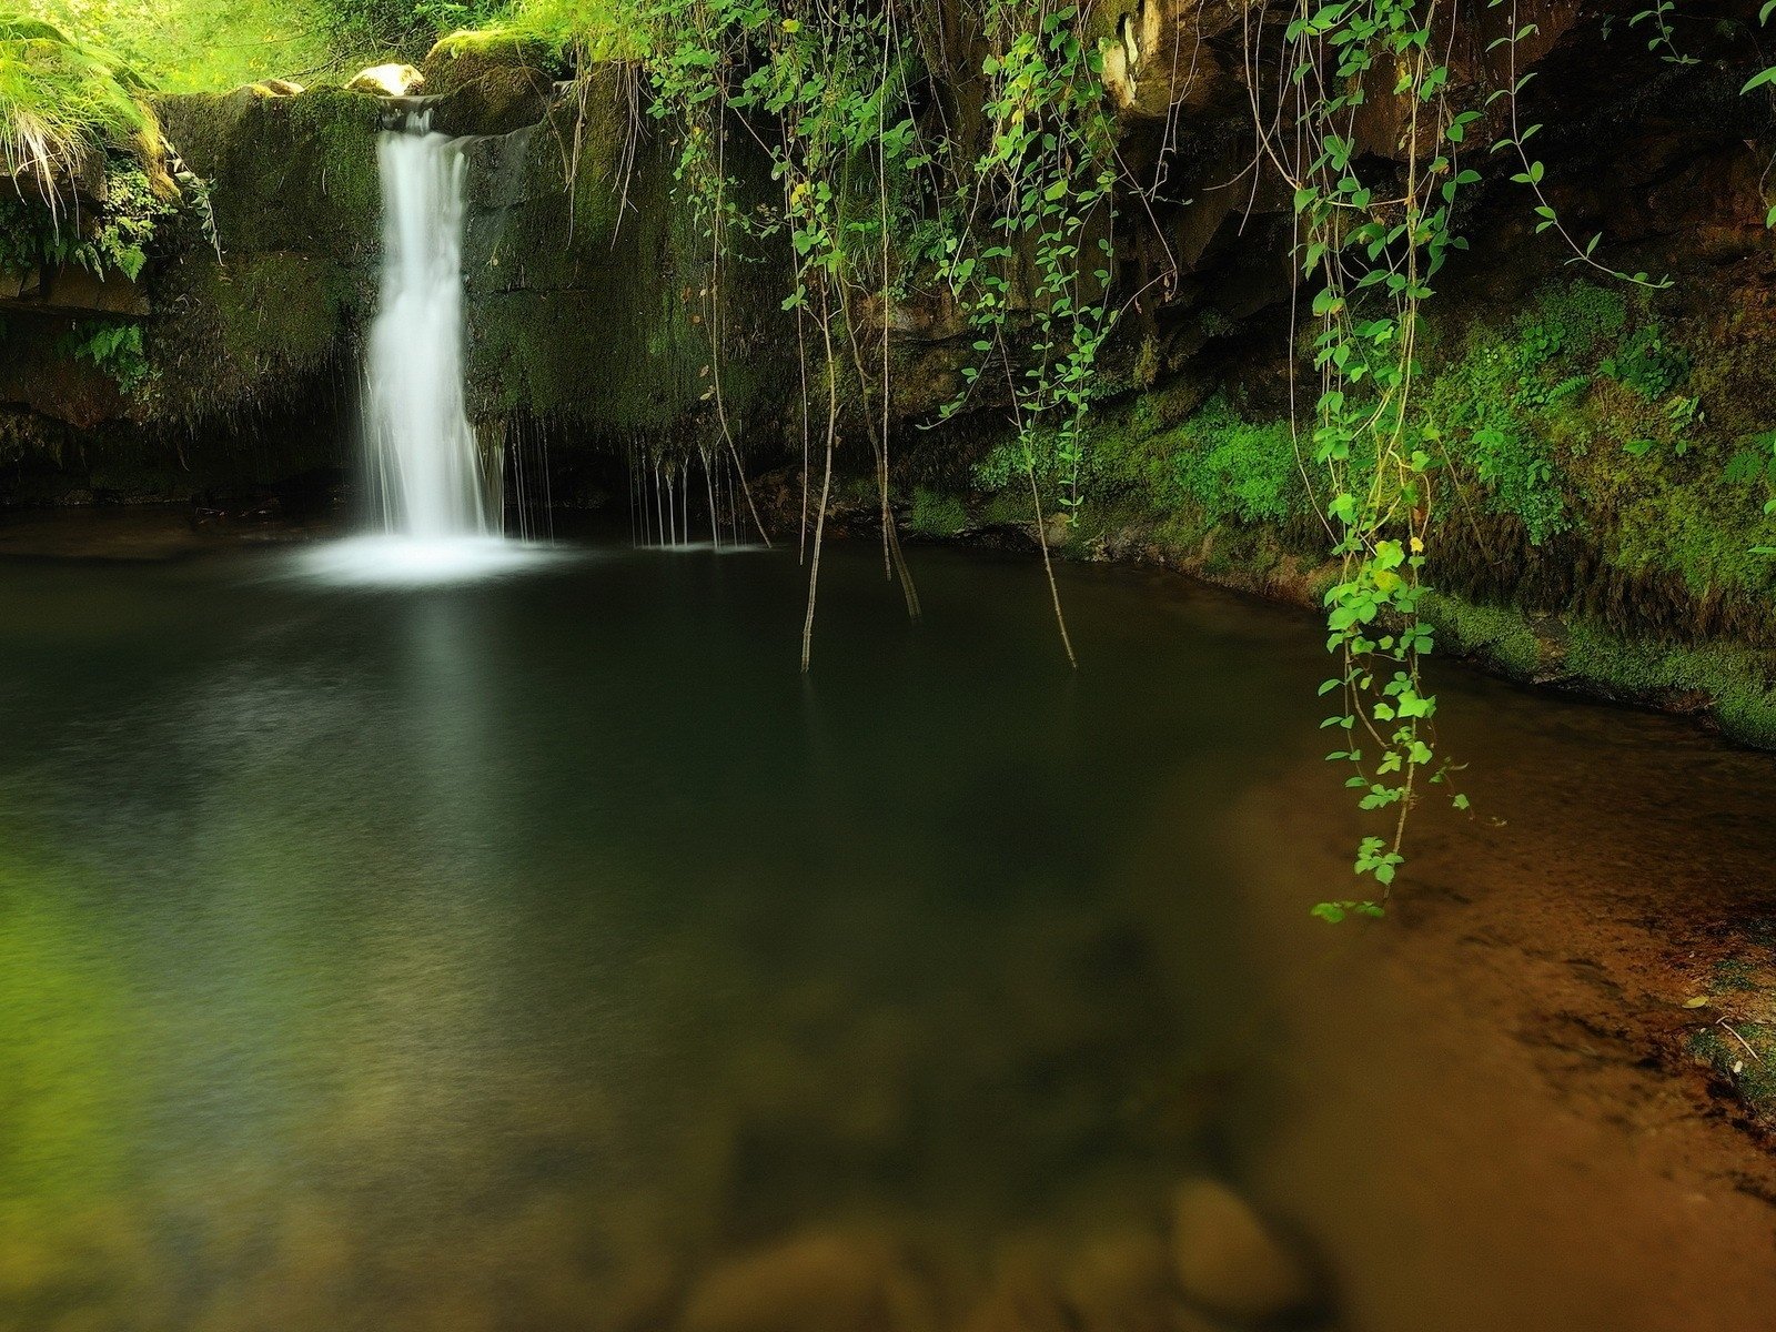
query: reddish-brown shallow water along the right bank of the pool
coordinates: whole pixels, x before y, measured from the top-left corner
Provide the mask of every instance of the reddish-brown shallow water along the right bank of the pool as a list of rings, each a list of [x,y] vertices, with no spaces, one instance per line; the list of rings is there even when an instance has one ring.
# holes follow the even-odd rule
[[[1398,929],[1296,954],[1254,1186],[1337,1236],[1362,1327],[1771,1327],[1776,1163],[1689,1055],[1769,989],[1684,1007],[1721,959],[1767,982],[1769,760],[1495,680],[1444,700],[1483,817],[1421,821]],[[1277,948],[1291,886],[1343,861],[1336,819],[1279,845],[1279,805],[1312,801],[1298,771],[1233,821]]]

